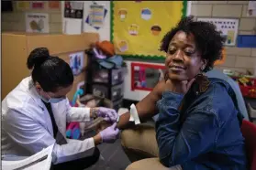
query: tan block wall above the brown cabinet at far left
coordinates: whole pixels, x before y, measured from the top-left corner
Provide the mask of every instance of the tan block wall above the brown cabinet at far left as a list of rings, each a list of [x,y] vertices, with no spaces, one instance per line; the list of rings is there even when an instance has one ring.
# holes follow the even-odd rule
[[[38,10],[18,10],[16,1],[14,4],[13,12],[2,13],[2,31],[26,31],[26,21],[25,14],[27,12],[31,13],[46,13],[49,14],[49,29],[50,33],[61,33],[61,7],[59,9],[49,9],[48,2],[45,3],[44,9]]]

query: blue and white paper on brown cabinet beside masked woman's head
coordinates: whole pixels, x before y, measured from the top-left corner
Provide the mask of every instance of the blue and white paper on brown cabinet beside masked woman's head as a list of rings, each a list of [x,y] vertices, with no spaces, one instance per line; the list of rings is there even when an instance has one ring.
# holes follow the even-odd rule
[[[76,52],[70,55],[70,67],[72,74],[77,76],[83,70],[83,52]]]

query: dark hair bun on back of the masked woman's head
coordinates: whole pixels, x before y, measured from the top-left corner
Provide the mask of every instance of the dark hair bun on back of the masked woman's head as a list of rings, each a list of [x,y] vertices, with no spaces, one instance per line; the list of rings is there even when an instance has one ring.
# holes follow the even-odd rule
[[[49,58],[50,53],[48,48],[35,48],[28,56],[27,67],[28,69],[33,69],[35,66],[40,66]]]

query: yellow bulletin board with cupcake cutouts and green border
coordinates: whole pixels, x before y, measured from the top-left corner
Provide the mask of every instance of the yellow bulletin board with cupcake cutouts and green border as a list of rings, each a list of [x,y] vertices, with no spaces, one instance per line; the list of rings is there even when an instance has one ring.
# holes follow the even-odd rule
[[[186,16],[187,1],[112,1],[111,41],[125,58],[164,59],[162,37]]]

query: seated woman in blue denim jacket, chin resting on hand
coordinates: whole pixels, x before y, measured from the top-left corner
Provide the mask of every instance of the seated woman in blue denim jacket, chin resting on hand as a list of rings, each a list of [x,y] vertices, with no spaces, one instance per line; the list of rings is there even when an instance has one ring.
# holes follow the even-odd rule
[[[247,169],[234,91],[227,81],[203,74],[221,58],[224,42],[213,24],[192,17],[163,37],[165,80],[136,105],[141,121],[159,113],[155,132],[145,124],[122,132],[128,156],[137,156],[131,161],[160,161],[145,159],[127,169]],[[123,114],[117,127],[130,127],[128,120],[129,113]]]

